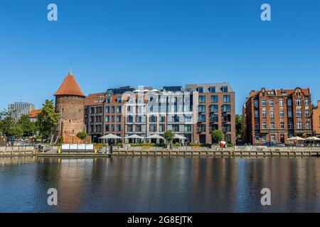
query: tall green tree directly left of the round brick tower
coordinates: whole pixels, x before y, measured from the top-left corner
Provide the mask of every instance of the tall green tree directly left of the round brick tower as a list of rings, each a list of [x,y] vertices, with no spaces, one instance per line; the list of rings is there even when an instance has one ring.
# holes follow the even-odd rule
[[[55,113],[53,100],[46,99],[42,105],[40,114],[37,115],[37,128],[41,140],[50,140],[53,133],[53,128],[58,123],[58,114]]]

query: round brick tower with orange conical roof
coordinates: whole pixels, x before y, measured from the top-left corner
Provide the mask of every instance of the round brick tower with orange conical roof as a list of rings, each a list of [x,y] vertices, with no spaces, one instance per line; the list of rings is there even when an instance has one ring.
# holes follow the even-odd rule
[[[59,121],[55,128],[53,142],[81,143],[77,133],[85,131],[85,94],[81,92],[73,74],[63,80],[55,96],[55,112]]]

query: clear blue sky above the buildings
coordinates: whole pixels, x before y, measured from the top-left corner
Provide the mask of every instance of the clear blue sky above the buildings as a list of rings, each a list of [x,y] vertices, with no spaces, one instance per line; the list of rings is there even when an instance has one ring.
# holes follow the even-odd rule
[[[47,6],[58,5],[58,21]],[[272,21],[260,20],[269,3]],[[310,87],[320,99],[320,1],[1,1],[0,108],[53,99],[72,62],[85,94],[110,87],[228,81]]]

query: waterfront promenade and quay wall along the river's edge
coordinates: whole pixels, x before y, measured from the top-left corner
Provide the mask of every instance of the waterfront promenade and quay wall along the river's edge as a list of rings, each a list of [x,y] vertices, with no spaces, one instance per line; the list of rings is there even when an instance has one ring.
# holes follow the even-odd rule
[[[267,146],[235,146],[223,148],[218,146],[190,147],[181,146],[177,148],[160,147],[132,147],[113,148],[110,153],[106,147],[95,149],[90,152],[64,151],[60,147],[46,146],[39,151],[34,146],[2,146],[0,147],[0,157],[10,156],[38,156],[38,157],[110,157],[110,156],[318,156],[320,157],[320,147],[267,147]]]

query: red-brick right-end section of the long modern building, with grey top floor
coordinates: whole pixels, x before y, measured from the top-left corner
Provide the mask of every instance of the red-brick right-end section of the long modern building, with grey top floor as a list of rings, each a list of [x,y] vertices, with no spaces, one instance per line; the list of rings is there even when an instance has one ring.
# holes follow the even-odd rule
[[[223,131],[225,141],[235,143],[235,92],[230,84],[186,84],[186,91],[190,90],[198,92],[193,140],[211,143],[211,132],[217,129]]]

